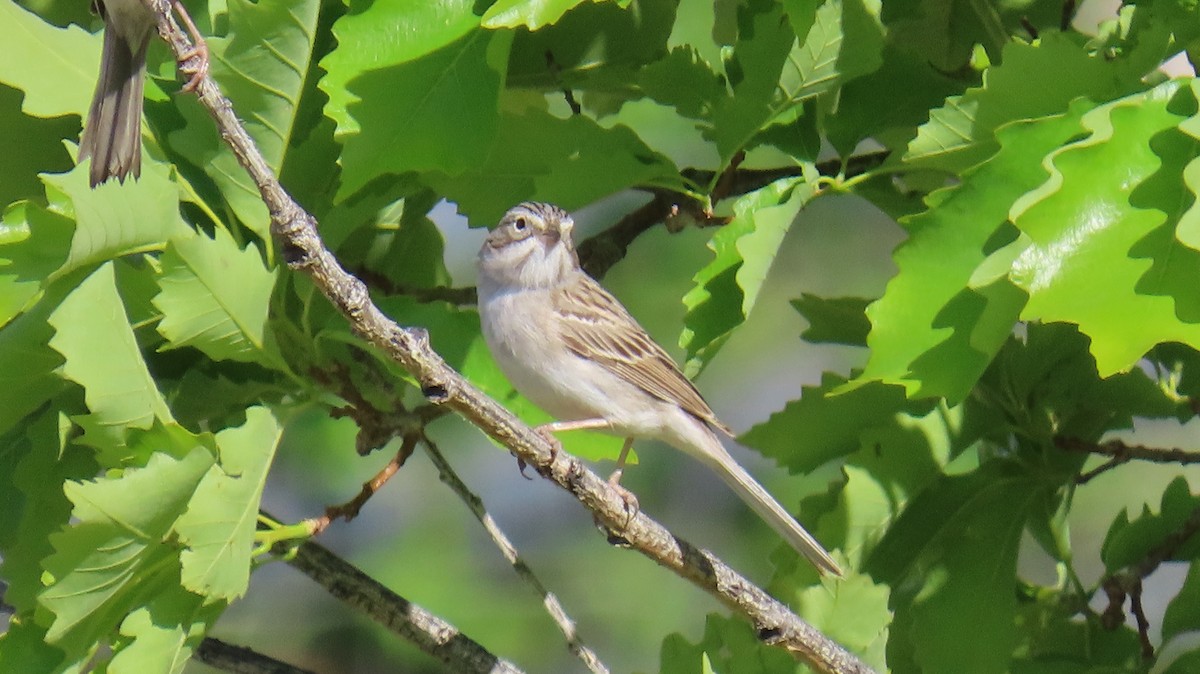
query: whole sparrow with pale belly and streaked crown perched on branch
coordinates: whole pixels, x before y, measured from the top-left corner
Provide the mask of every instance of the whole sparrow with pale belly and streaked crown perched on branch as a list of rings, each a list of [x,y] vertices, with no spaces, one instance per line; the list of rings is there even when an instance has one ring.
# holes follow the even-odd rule
[[[674,361],[580,267],[575,223],[548,204],[511,209],[479,252],[484,338],[509,380],[559,421],[542,431],[595,428],[653,438],[716,471],[751,508],[823,572],[841,570],[820,543],[721,445],[732,437]]]

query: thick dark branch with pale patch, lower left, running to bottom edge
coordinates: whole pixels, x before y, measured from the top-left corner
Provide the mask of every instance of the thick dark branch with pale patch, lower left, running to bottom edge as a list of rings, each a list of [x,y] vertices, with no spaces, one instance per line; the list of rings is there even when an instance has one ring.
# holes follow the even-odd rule
[[[410,603],[356,566],[308,541],[288,564],[312,578],[330,595],[440,660],[451,672],[518,674],[511,662],[493,655],[457,627]]]

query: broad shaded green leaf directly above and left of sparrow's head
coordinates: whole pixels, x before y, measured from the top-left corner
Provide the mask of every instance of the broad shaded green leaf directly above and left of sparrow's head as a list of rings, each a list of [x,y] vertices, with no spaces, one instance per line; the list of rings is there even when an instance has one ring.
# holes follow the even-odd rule
[[[499,126],[512,34],[476,30],[415,61],[349,83],[359,132],[343,134],[340,198],[384,174],[461,174],[487,157]],[[455,110],[449,115],[446,110]]]

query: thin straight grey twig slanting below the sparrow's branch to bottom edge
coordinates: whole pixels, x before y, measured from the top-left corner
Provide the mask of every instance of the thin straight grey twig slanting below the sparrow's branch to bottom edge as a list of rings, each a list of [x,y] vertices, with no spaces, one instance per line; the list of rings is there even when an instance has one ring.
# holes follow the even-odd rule
[[[425,453],[430,456],[430,461],[432,461],[433,465],[438,469],[438,475],[442,477],[442,482],[450,487],[450,489],[458,495],[462,503],[467,504],[472,514],[474,514],[475,519],[484,525],[484,530],[487,531],[487,535],[492,537],[492,542],[496,543],[497,548],[499,548],[500,554],[503,554],[504,559],[512,565],[512,570],[516,571],[517,577],[524,580],[530,588],[534,589],[535,592],[538,592],[541,597],[542,606],[546,607],[546,613],[550,614],[551,620],[554,621],[554,625],[557,625],[563,632],[563,636],[566,637],[568,650],[575,654],[575,656],[578,657],[584,666],[587,666],[589,672],[594,672],[595,674],[607,674],[608,668],[600,661],[596,654],[583,643],[583,639],[580,638],[578,632],[575,630],[575,621],[566,615],[566,609],[563,608],[562,602],[558,601],[558,597],[554,596],[553,592],[547,590],[546,586],[541,584],[541,580],[534,576],[529,565],[521,559],[516,546],[514,546],[512,541],[504,535],[500,525],[497,524],[496,519],[492,518],[492,514],[487,512],[482,499],[472,492],[470,488],[467,487],[467,483],[458,477],[457,471],[455,471],[454,467],[450,465],[450,462],[446,461],[442,450],[439,450],[438,446],[428,438],[424,438],[424,440]]]

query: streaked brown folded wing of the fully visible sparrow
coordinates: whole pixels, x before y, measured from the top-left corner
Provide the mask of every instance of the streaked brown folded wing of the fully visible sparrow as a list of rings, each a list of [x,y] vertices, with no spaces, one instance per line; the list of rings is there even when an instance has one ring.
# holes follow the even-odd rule
[[[676,403],[724,433],[721,423],[696,386],[679,372],[662,347],[625,311],[625,307],[583,275],[556,296],[563,315],[563,341],[575,354],[601,363],[647,393]]]

